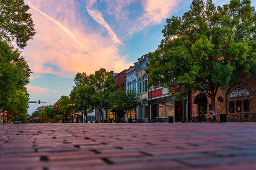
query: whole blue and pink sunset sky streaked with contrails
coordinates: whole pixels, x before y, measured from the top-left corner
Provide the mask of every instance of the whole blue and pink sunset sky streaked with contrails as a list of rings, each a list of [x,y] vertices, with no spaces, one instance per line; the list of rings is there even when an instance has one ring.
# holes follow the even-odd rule
[[[22,49],[33,72],[27,85],[31,115],[69,96],[75,75],[101,67],[121,72],[154,52],[166,19],[182,16],[192,0],[25,0],[37,31]],[[216,5],[228,0],[213,1]],[[256,2],[252,1],[255,6]]]

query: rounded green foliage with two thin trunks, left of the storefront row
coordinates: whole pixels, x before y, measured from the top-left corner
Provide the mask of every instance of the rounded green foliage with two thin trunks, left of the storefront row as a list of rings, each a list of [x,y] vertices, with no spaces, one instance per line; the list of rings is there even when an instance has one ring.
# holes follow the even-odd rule
[[[75,111],[87,116],[87,113],[98,108],[103,120],[102,109],[111,107],[110,96],[114,91],[113,75],[101,68],[90,75],[77,73],[74,81],[76,86],[70,93],[70,99],[75,104]]]

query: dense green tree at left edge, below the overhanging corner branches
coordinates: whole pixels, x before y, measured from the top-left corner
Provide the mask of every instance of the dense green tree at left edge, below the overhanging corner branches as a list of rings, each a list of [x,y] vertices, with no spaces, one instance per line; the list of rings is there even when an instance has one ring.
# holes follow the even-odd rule
[[[30,69],[20,52],[0,41],[0,109],[26,117]],[[22,114],[22,116],[21,116]],[[26,120],[26,119],[25,119]]]

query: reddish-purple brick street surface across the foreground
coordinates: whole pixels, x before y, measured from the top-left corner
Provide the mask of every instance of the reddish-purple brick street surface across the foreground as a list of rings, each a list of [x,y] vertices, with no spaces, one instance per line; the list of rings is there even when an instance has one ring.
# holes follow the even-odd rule
[[[256,169],[256,123],[0,124],[1,169]]]

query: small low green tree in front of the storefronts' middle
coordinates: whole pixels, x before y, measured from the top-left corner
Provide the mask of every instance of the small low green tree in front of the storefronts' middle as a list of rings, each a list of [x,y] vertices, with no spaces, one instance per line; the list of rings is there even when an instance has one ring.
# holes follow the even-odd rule
[[[125,111],[126,116],[137,106],[141,106],[141,99],[134,90],[118,90],[113,93],[114,108],[117,111]]]

